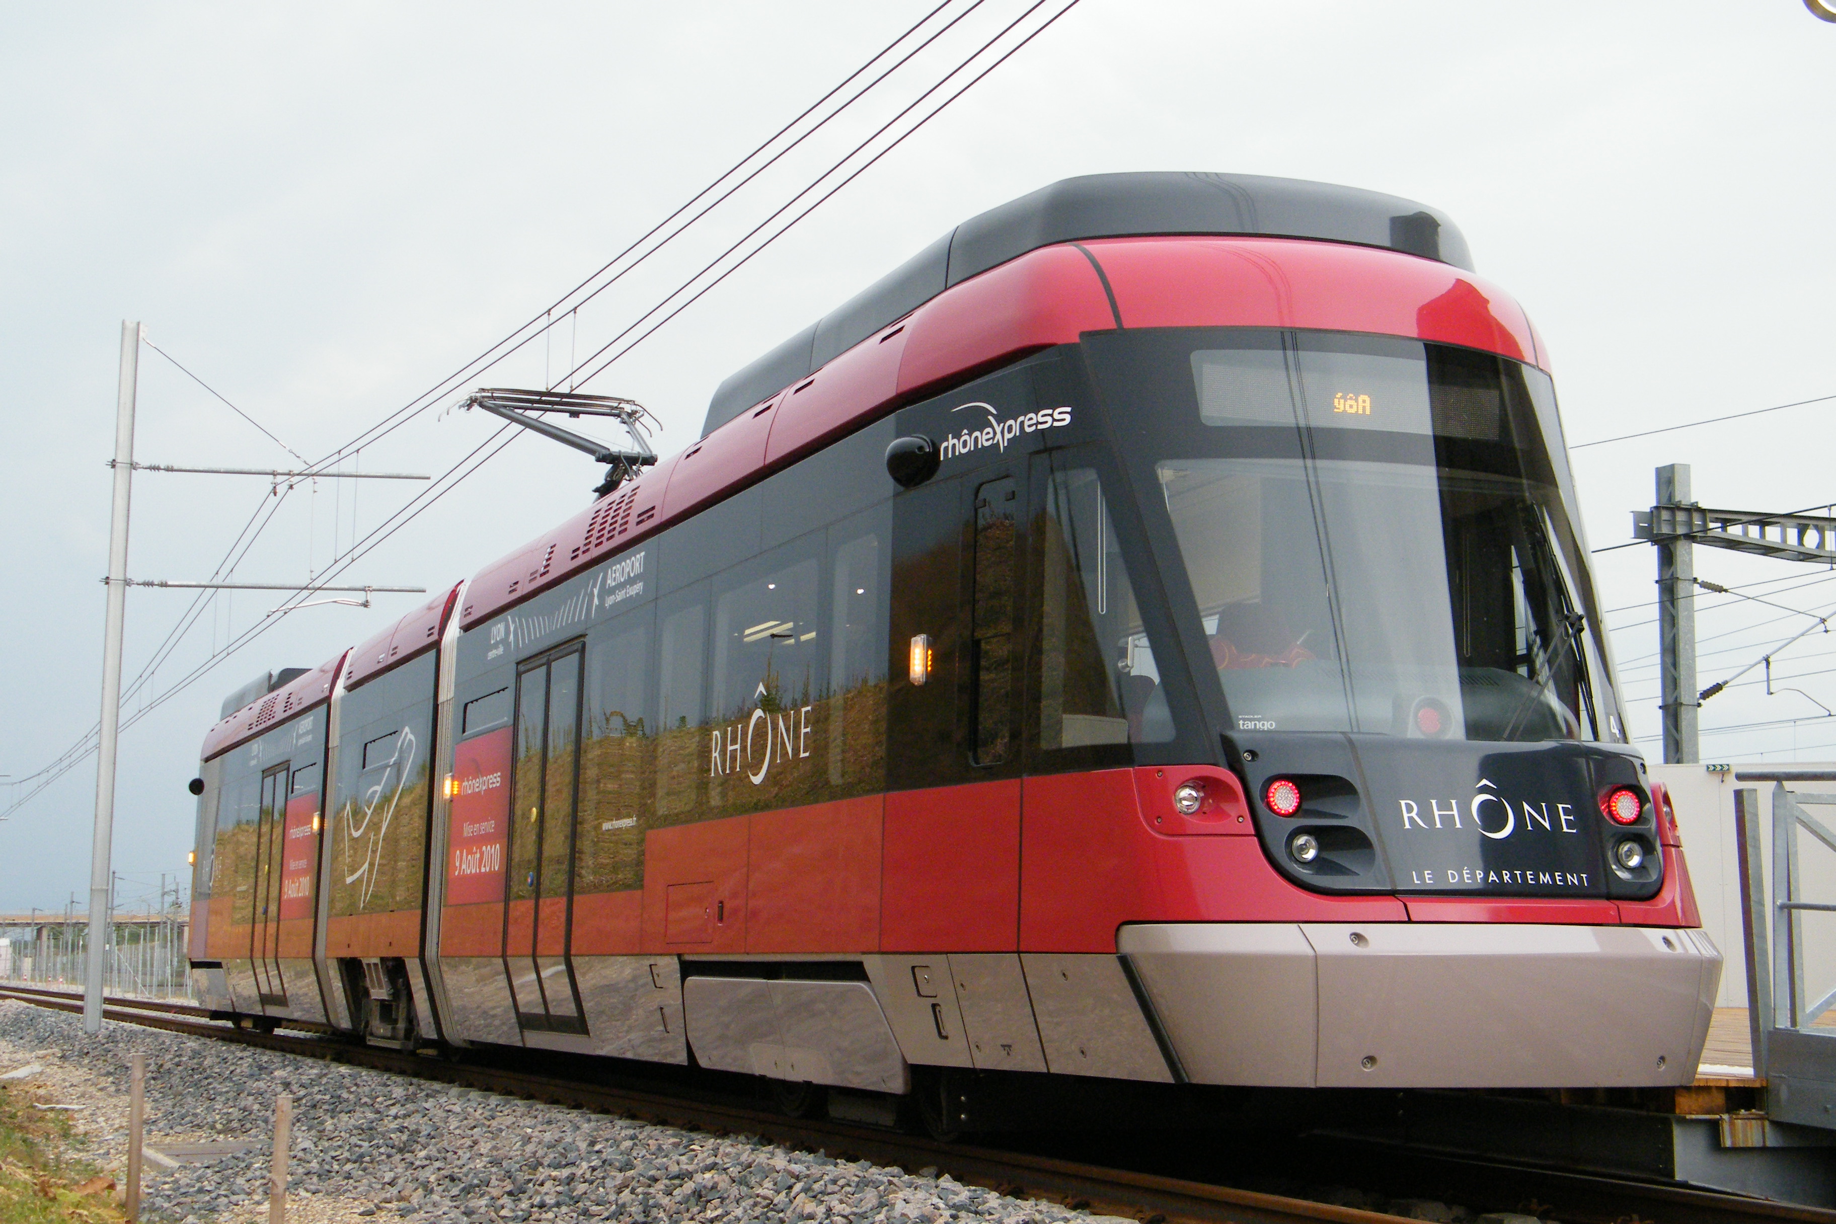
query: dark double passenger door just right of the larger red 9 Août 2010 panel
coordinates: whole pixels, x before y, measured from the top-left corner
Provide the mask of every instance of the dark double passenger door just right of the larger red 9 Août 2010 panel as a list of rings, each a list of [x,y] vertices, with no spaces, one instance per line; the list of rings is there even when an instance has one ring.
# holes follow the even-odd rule
[[[586,1033],[567,960],[584,661],[573,644],[523,664],[516,677],[503,958],[525,1031]]]

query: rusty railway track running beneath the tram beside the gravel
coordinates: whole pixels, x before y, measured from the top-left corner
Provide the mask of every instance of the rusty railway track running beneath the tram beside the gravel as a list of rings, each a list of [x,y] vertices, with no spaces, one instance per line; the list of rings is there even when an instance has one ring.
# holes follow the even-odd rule
[[[0,985],[0,998],[39,1007],[81,1011],[77,991]],[[837,1119],[799,1119],[707,1090],[652,1083],[582,1083],[490,1061],[453,1061],[353,1042],[330,1033],[255,1031],[213,1020],[204,1007],[138,998],[108,998],[110,1020],[160,1028],[193,1037],[233,1040],[264,1050],[329,1059],[398,1075],[413,1075],[483,1092],[518,1096],[571,1108],[588,1108],[650,1123],[712,1134],[756,1134],[773,1143],[837,1158],[868,1160],[905,1169],[936,1167],[964,1184],[1021,1198],[1043,1198],[1100,1215],[1164,1224],[1395,1224],[1405,1217],[1291,1198],[1283,1195],[1164,1176],[1127,1163],[1091,1163],[1050,1154],[969,1143],[938,1143],[924,1136]],[[468,1052],[470,1053],[470,1052]],[[738,1079],[738,1077],[736,1077]],[[1495,1165],[1443,1156],[1388,1154],[1386,1162],[1416,1162],[1423,1184],[1491,1187],[1491,1198],[1546,1206],[1564,1224],[1724,1224],[1796,1220],[1836,1224],[1836,1211],[1779,1204],[1678,1185],[1614,1180],[1588,1174]],[[1480,1195],[1474,1195],[1480,1196]],[[1483,1198],[1482,1198],[1483,1200]]]

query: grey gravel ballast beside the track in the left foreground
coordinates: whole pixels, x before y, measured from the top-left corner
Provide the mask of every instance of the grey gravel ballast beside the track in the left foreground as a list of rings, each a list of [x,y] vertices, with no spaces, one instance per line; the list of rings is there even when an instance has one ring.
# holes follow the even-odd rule
[[[0,1074],[77,1105],[77,1129],[118,1178],[127,1156],[127,1059],[147,1055],[147,1143],[242,1140],[248,1152],[145,1163],[143,1218],[266,1218],[274,1099],[294,1096],[290,1211],[305,1224],[415,1220],[1105,1220],[949,1176],[714,1138],[453,1088],[233,1042],[0,1002]],[[299,1195],[301,1198],[292,1198]]]

